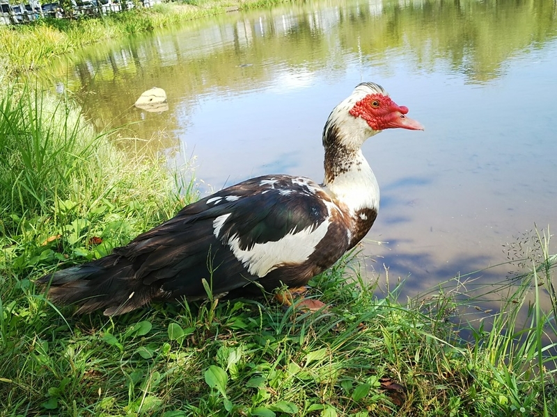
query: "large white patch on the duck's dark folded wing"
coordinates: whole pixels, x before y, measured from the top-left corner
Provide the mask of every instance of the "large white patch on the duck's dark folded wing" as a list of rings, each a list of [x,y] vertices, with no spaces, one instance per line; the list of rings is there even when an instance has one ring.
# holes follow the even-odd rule
[[[219,218],[221,217],[223,216]],[[214,222],[217,222],[219,218]],[[329,224],[331,224],[330,218],[327,218],[315,230],[312,230],[312,227],[306,227],[298,232],[292,231],[276,242],[256,243],[251,250],[240,249],[240,238],[235,235],[228,240],[228,246],[251,275],[265,277],[269,272],[285,263],[307,261],[308,257],[313,254],[317,243],[320,243],[327,234]],[[217,229],[215,229],[216,231]],[[215,234],[215,236],[217,235]]]

